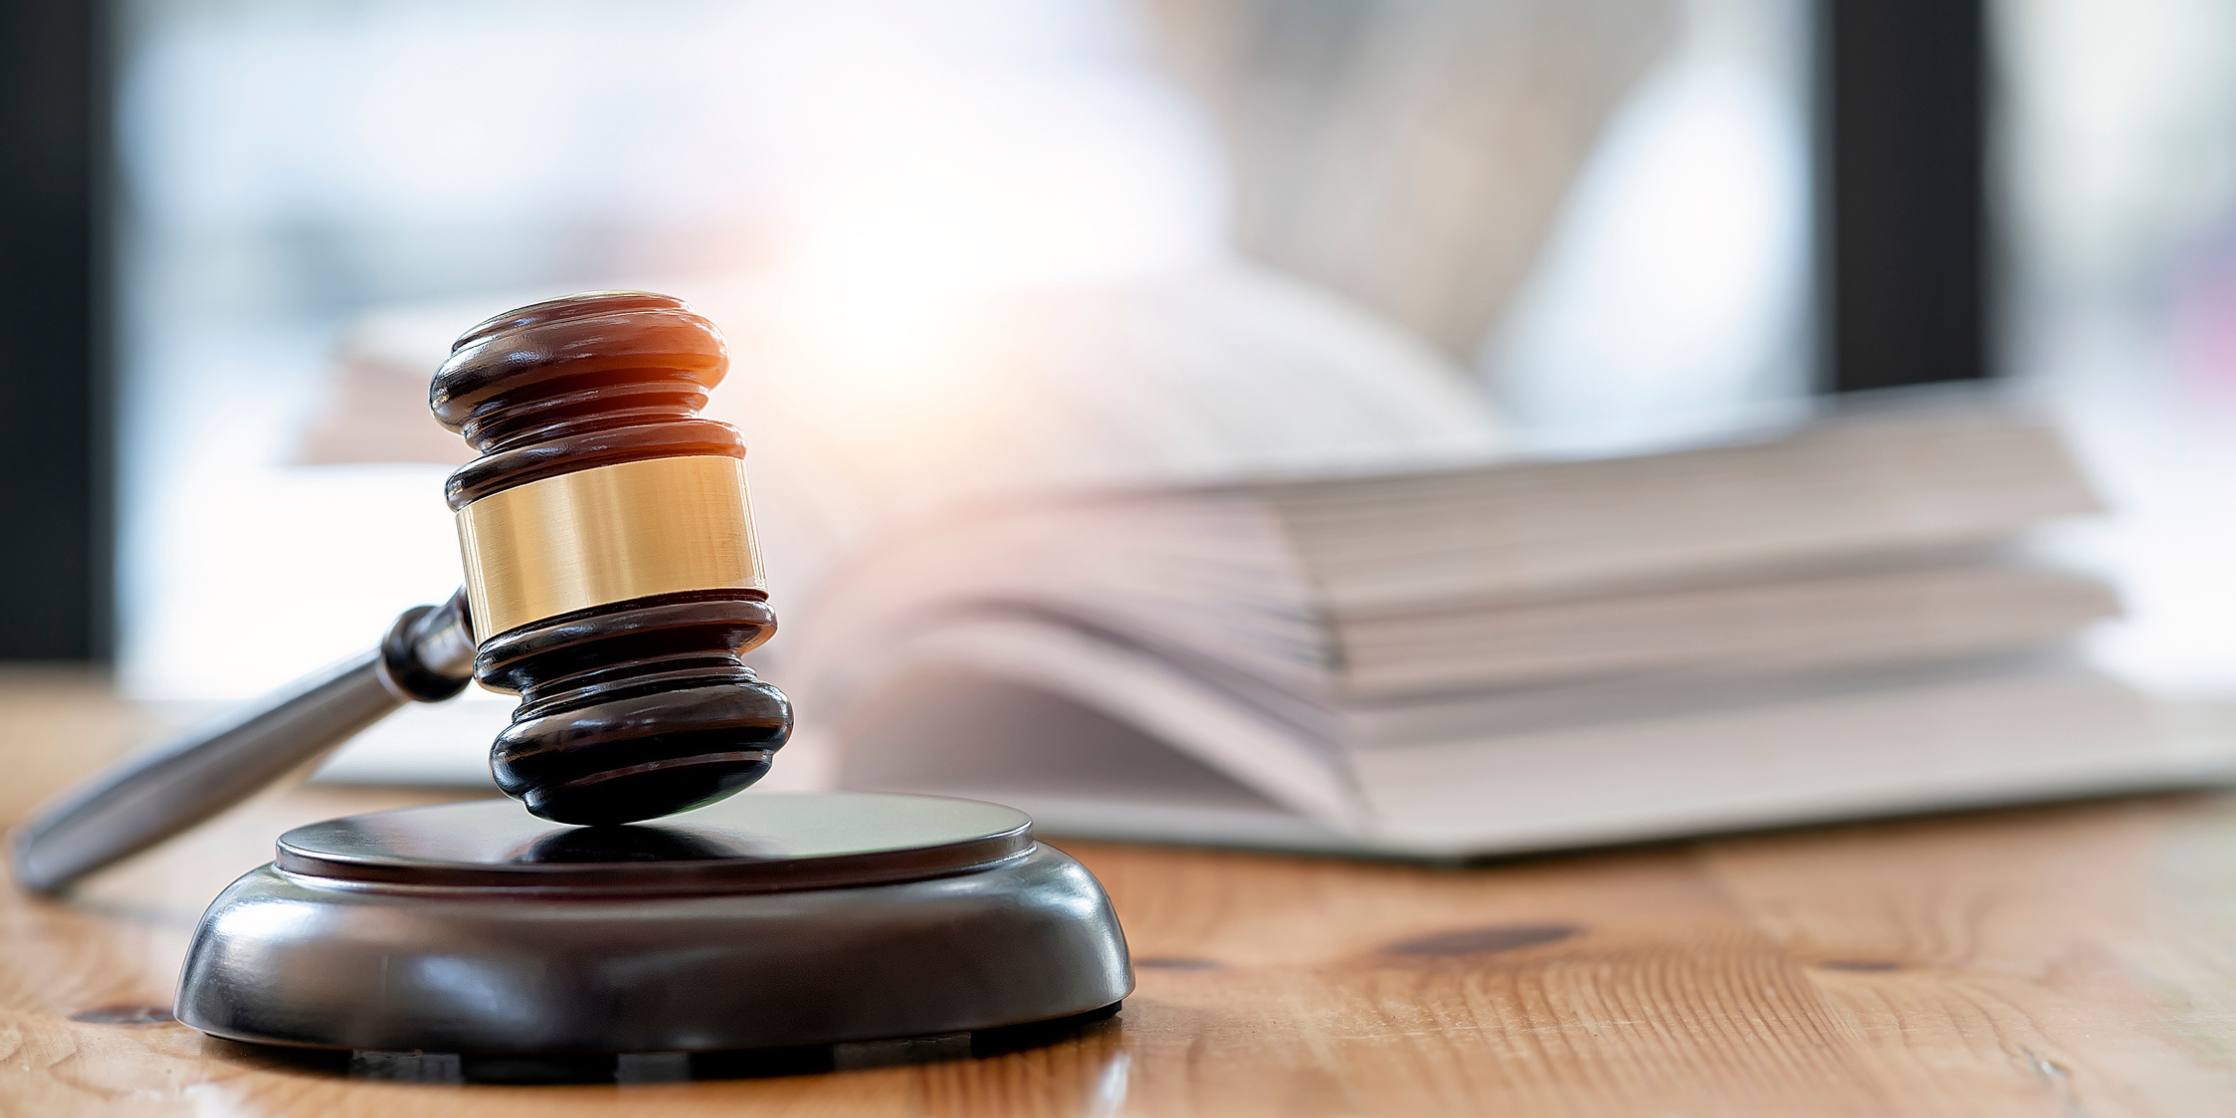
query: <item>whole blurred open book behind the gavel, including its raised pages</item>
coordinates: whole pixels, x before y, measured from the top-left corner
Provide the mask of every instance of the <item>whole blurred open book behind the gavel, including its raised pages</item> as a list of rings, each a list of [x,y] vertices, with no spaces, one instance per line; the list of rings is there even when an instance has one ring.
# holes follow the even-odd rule
[[[306,456],[456,456],[418,396],[503,304],[367,320]],[[2030,541],[2097,503],[1995,405],[1529,461],[1458,371],[1245,266],[1020,295],[888,380],[754,291],[704,309],[800,718],[776,785],[1467,856],[2227,776],[2068,655],[2117,601]],[[481,785],[508,711],[407,711],[329,776]]]

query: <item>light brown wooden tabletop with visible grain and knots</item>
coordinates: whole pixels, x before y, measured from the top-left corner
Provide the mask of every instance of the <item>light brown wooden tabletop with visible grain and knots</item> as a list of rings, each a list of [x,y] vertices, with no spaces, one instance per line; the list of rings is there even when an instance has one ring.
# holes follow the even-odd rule
[[[0,711],[7,821],[148,733],[69,675],[0,675]],[[2236,1114],[2229,796],[1476,870],[1062,843],[1109,885],[1140,988],[991,1058],[490,1087],[170,1020],[195,917],[280,830],[425,798],[291,789],[74,901],[0,894],[0,1111]]]

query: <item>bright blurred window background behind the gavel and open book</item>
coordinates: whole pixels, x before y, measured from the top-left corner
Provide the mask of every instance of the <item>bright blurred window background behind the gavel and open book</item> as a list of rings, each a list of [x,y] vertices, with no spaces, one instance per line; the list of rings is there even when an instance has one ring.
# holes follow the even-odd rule
[[[615,286],[729,331],[809,610],[1026,483],[1630,454],[1990,380],[2115,512],[2097,653],[2236,686],[2220,0],[107,0],[11,4],[0,51],[0,655],[139,698],[445,595],[427,376]]]

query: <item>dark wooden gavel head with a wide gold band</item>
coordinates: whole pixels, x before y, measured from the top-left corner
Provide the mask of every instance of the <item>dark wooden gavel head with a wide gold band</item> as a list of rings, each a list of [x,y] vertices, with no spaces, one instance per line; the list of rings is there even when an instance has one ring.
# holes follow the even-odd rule
[[[792,733],[740,662],[776,615],[745,440],[698,414],[727,369],[684,302],[608,291],[496,315],[434,376],[436,418],[481,452],[447,485],[474,678],[521,695],[490,771],[543,818],[720,800]]]

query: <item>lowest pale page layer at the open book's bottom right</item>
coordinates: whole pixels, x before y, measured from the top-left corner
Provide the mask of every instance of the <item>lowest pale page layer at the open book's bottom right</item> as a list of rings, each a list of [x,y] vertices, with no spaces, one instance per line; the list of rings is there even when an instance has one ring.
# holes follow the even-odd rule
[[[1939,680],[1359,756],[1371,843],[1509,852],[2236,778],[2086,669]]]

